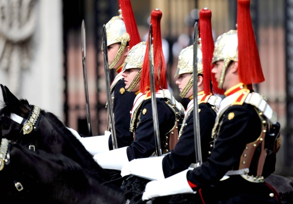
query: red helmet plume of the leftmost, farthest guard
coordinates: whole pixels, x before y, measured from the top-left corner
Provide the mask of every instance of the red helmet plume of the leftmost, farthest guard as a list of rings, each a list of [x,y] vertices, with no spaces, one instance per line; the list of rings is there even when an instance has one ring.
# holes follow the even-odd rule
[[[119,0],[122,10],[122,17],[125,23],[126,32],[130,36],[129,49],[137,43],[141,42],[137,24],[134,18],[130,0]]]

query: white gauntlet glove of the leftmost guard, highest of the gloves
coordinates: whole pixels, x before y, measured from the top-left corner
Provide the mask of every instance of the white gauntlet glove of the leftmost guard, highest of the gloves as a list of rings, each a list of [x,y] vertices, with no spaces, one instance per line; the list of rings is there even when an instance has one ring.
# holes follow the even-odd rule
[[[91,154],[95,155],[101,152],[109,151],[109,137],[111,132],[105,131],[105,135],[92,136],[81,138],[80,141],[85,149]]]

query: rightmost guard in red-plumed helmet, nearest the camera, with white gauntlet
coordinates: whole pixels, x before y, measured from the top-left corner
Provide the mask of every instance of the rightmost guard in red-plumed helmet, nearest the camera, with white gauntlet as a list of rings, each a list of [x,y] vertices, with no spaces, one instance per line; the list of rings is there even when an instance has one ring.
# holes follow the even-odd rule
[[[211,72],[225,90],[226,98],[220,104],[212,130],[215,142],[210,157],[193,170],[149,182],[143,200],[170,192],[197,191],[195,203],[279,203],[276,190],[264,182],[272,173],[272,168],[265,165],[267,159],[271,160],[267,155],[275,154],[279,147],[279,124],[264,97],[251,89],[252,83],[263,82],[264,77],[249,0],[238,0],[237,25],[237,31],[217,39],[213,52]],[[269,163],[274,166],[274,161]]]

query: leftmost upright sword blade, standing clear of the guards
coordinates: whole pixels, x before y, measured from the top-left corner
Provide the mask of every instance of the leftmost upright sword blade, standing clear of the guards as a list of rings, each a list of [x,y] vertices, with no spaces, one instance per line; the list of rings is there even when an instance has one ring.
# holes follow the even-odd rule
[[[83,70],[84,70],[84,93],[85,93],[85,103],[86,103],[86,119],[88,135],[93,136],[92,123],[90,118],[90,107],[88,99],[88,87],[87,87],[87,73],[86,73],[86,48],[85,48],[85,26],[84,20],[82,22],[82,59],[83,59]]]

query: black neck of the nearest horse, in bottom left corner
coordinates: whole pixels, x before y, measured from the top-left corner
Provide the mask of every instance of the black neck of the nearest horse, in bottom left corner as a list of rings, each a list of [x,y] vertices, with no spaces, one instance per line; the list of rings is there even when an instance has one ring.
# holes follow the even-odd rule
[[[85,172],[78,163],[62,154],[49,154],[43,150],[34,152],[18,143],[8,143],[7,139],[2,139],[0,145],[1,157],[5,158],[5,160],[0,159],[0,166],[2,164],[0,191],[1,200],[4,202],[134,203],[131,201],[131,192],[124,191],[113,184],[101,184]],[[3,153],[3,146],[7,144],[9,145],[7,153]]]

